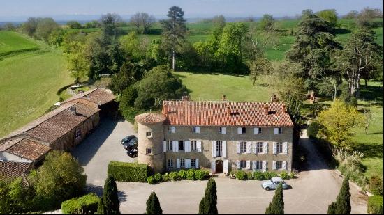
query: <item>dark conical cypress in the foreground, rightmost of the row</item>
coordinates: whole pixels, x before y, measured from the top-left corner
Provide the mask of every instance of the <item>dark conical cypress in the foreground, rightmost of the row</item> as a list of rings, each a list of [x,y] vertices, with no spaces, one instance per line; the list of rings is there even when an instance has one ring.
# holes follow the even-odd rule
[[[340,193],[336,198],[335,214],[350,214],[349,177],[344,178]]]

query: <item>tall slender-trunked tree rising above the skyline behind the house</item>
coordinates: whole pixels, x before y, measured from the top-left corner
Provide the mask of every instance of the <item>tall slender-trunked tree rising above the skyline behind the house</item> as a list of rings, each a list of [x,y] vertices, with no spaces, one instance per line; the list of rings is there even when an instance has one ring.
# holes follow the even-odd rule
[[[186,20],[182,8],[172,6],[168,15],[169,19],[162,20],[163,44],[165,49],[172,55],[172,70],[176,69],[176,51],[182,45],[186,33]]]

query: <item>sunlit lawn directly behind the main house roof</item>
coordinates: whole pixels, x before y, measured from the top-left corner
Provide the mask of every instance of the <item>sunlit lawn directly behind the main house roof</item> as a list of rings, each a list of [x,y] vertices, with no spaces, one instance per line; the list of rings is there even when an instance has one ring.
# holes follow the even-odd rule
[[[263,86],[263,81],[257,81],[253,86],[248,76],[230,74],[173,72],[182,79],[189,90],[191,99],[219,100],[226,95],[230,101],[269,101],[273,90]]]

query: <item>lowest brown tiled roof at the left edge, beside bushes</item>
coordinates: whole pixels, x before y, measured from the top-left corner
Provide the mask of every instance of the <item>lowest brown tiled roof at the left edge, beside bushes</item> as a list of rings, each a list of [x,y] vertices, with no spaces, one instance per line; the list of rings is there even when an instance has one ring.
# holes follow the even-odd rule
[[[0,161],[0,181],[8,184],[17,177],[22,177],[24,184],[27,184],[24,174],[30,165],[27,162]]]

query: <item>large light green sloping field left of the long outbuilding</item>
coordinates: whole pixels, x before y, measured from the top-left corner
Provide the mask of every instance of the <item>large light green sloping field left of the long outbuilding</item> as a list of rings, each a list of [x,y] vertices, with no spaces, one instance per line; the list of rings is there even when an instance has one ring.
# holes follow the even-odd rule
[[[0,44],[24,38],[15,32],[7,35],[6,40],[0,37]],[[73,82],[60,51],[25,40],[29,42],[13,45],[24,52],[0,59],[0,137],[43,115],[58,101],[57,90]],[[10,49],[0,47],[0,53],[5,50]]]

